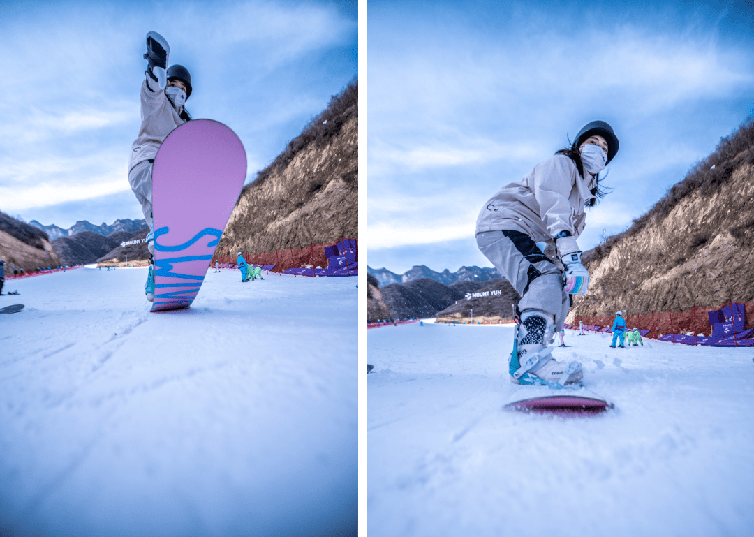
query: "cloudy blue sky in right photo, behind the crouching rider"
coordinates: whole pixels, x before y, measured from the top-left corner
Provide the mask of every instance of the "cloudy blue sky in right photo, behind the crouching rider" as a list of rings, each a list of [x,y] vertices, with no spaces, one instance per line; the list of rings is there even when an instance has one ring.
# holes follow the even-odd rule
[[[381,2],[367,43],[367,262],[492,266],[484,201],[615,128],[588,250],[621,232],[754,115],[752,2]]]

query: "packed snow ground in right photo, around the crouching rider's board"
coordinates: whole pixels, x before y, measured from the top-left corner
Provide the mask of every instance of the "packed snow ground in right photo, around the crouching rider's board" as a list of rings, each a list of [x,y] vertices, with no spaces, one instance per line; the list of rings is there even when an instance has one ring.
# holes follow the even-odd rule
[[[513,325],[368,330],[369,537],[754,535],[754,350],[577,333],[607,413],[503,410]]]

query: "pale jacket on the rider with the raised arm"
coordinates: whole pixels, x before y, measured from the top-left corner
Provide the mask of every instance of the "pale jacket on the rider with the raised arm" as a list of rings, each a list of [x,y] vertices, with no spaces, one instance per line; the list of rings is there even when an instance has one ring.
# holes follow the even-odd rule
[[[155,158],[167,135],[190,119],[184,110],[180,114],[176,111],[158,81],[149,75],[145,76],[141,87],[141,116],[139,137],[131,146],[129,172],[139,162]]]

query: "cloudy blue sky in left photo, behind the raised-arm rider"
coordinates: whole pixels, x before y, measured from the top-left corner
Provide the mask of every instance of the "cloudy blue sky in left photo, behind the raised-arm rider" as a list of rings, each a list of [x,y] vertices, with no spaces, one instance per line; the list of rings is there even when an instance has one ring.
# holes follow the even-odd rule
[[[0,210],[63,228],[143,218],[127,163],[146,33],[192,73],[253,180],[357,74],[357,2],[0,2]]]

